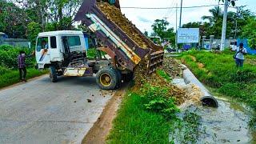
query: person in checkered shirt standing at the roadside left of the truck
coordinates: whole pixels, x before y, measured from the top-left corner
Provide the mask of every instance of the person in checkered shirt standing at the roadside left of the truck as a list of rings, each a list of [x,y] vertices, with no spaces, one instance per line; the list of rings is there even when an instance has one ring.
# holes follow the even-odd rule
[[[21,50],[18,54],[18,70],[19,70],[19,79],[21,82],[26,82],[26,54],[24,50]]]

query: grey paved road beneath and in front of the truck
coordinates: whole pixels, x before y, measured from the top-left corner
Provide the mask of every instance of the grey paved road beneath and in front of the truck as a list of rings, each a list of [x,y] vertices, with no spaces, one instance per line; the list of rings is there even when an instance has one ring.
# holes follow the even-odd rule
[[[0,90],[0,143],[80,143],[110,98],[94,78],[43,76]]]

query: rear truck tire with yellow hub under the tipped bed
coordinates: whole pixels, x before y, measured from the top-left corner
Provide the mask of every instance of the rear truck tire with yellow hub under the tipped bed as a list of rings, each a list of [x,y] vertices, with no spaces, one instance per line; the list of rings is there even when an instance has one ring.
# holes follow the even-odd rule
[[[118,85],[118,74],[111,67],[102,68],[96,74],[96,81],[102,90],[114,90]]]

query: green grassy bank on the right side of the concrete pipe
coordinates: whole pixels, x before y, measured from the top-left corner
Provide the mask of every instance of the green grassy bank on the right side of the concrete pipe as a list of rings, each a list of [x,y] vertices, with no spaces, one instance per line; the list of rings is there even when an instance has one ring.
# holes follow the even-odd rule
[[[218,93],[238,98],[256,109],[256,66],[255,56],[246,56],[243,68],[237,68],[233,53],[229,51],[215,54],[206,51],[190,50],[181,56],[190,70],[207,86]]]

